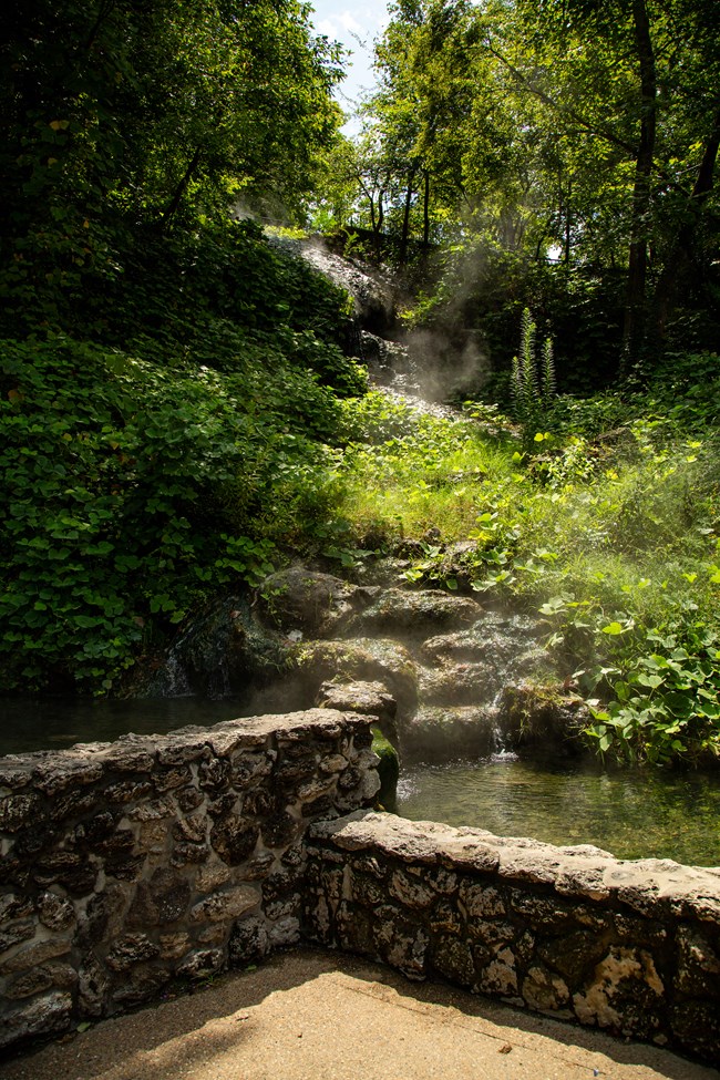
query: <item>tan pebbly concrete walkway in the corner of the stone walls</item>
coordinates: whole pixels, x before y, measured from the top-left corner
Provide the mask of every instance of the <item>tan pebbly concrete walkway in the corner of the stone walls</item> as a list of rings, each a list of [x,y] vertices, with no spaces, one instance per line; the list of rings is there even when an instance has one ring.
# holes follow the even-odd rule
[[[105,1020],[0,1064],[2,1080],[718,1080],[655,1047],[538,1018],[335,953]]]

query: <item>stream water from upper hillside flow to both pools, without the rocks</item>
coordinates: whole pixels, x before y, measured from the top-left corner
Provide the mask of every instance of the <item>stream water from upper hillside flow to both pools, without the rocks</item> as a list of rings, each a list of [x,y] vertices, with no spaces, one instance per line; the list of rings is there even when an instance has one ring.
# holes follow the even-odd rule
[[[322,253],[313,251],[315,265],[322,263],[323,258]],[[342,260],[336,256],[329,258],[333,272],[327,269],[326,272],[339,280]],[[321,266],[319,268],[322,269]],[[384,285],[376,285],[357,270],[353,274],[358,280],[339,280],[339,284],[350,287],[351,291],[354,285],[357,302],[360,302],[359,296],[369,296],[377,320],[382,321],[378,312],[387,315],[391,304],[387,289],[383,291]],[[378,331],[380,327],[372,326],[372,330]],[[364,342],[363,351],[368,352],[366,359],[371,370],[374,368],[374,381],[383,385],[385,392],[402,398],[422,411],[435,415],[450,414],[443,404],[426,400],[432,394],[418,385],[412,362],[401,346],[383,341],[370,329],[362,331],[361,339]],[[485,642],[485,647],[491,640],[491,623],[492,616],[485,615],[479,638],[479,641],[482,639]],[[501,634],[498,641],[504,640],[501,631],[505,623],[500,619],[498,627],[493,631]],[[199,619],[197,625],[200,625]],[[379,630],[370,626],[358,632],[377,635]],[[510,629],[505,628],[505,636],[508,635],[513,648],[517,650],[522,644],[522,632],[513,624]],[[194,644],[192,635],[186,636],[191,642],[191,659],[206,648],[203,634],[197,636],[199,645]],[[388,634],[388,637],[392,636]],[[435,666],[438,671],[442,670],[443,649],[448,656],[453,655],[453,649],[461,652],[464,649],[471,659],[479,659],[480,645],[471,639],[470,631],[465,634],[467,640],[455,640],[453,644],[453,639],[461,636],[446,635],[445,638],[435,637],[425,642],[425,650],[434,642],[438,651],[436,657],[431,655],[432,649],[425,656],[425,685],[421,679],[420,687],[425,696],[436,692],[432,677]],[[215,638],[208,637],[208,641],[212,651]],[[492,642],[490,666],[498,668],[506,658],[494,638]],[[525,648],[528,644],[525,644]],[[220,669],[219,661],[213,657],[210,667],[216,675]],[[460,652],[457,658],[467,659]],[[172,661],[173,650],[167,657],[166,672],[171,671]],[[487,664],[486,658],[486,667]],[[461,665],[457,671],[469,667],[472,665]],[[500,677],[500,671],[495,675]],[[158,692],[172,695],[174,686],[171,679]],[[185,686],[189,688],[187,680]],[[194,689],[197,690],[196,687]],[[476,703],[473,697],[472,704]],[[188,724],[206,727],[238,717],[304,707],[307,703],[284,698],[281,686],[254,697],[220,693],[210,698],[187,693],[182,697],[158,696],[121,701],[0,698],[0,755],[62,750],[79,742],[112,741],[128,732],[164,734]],[[456,711],[462,713],[462,710]],[[436,709],[435,712],[442,710]],[[456,747],[457,743],[453,741],[452,753],[457,752]],[[485,752],[475,750],[475,753]],[[432,752],[425,753],[425,757],[430,757],[434,763],[403,767],[397,801],[388,806],[389,810],[415,821],[470,825],[496,835],[532,836],[558,845],[593,844],[620,858],[661,857],[690,865],[720,865],[720,772],[604,770],[596,761],[585,759],[528,760],[514,753],[467,757],[462,761],[443,763],[439,763],[439,758],[433,757]]]

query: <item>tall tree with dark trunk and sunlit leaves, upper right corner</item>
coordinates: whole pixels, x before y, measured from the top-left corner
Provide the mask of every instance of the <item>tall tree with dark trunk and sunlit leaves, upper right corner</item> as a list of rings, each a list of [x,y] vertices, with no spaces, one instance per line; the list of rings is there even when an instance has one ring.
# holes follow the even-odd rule
[[[600,181],[599,213],[614,206],[611,254],[627,266],[624,351],[637,359],[664,337],[679,297],[688,218],[697,225],[711,210],[717,10],[696,0],[521,0],[516,13],[531,49],[517,66],[502,47],[496,54],[516,92],[535,96],[554,119],[560,140],[575,134],[587,144],[582,172]],[[586,213],[583,243],[596,232],[589,220]],[[569,246],[566,235],[566,258]]]

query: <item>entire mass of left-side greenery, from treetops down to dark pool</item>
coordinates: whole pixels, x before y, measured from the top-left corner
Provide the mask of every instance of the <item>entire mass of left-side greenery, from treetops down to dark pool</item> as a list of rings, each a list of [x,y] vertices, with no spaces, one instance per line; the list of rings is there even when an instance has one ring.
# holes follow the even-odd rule
[[[326,520],[348,300],[229,209],[300,212],[337,49],[294,0],[0,20],[2,686],[107,690]]]

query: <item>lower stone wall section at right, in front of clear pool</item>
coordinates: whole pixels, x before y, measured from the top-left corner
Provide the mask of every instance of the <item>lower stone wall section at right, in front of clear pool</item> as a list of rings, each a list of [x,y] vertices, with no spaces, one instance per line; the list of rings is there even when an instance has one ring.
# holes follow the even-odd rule
[[[311,940],[720,1061],[720,871],[376,813],[306,846]]]

